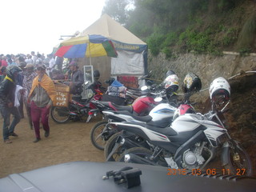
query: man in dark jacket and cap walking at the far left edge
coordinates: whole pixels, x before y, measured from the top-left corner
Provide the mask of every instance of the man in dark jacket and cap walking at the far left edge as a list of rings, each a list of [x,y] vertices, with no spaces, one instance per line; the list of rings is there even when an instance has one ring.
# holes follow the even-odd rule
[[[18,72],[22,71],[18,66],[7,66],[6,78],[0,83],[0,110],[3,118],[2,136],[5,143],[11,143],[9,136],[18,137],[14,133],[14,128],[20,122],[18,108],[14,106],[16,82]],[[14,119],[10,125],[10,114]]]

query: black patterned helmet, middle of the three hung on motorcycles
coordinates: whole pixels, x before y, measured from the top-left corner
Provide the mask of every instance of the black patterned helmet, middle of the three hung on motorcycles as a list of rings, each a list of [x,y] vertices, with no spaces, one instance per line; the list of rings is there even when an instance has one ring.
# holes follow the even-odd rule
[[[192,91],[199,91],[202,88],[202,82],[201,79],[198,77],[198,75],[194,73],[188,73],[186,74],[186,77],[184,78],[182,89],[184,93],[189,93]]]

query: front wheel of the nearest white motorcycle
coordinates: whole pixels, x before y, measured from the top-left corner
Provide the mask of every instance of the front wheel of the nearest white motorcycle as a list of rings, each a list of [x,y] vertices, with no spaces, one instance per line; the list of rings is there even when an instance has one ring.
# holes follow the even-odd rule
[[[242,146],[230,146],[227,155],[228,163],[226,164],[225,169],[230,171],[230,174],[238,176],[251,176],[253,174],[250,156]]]

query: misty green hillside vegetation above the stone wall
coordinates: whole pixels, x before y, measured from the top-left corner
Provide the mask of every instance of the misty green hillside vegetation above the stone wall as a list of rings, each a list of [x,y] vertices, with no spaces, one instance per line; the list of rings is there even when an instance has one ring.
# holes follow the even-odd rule
[[[147,42],[154,56],[160,51],[166,54],[166,58],[174,58],[177,51],[222,55],[222,50],[242,54],[256,50],[256,12],[248,11],[247,4],[253,3],[249,0],[106,2],[111,9],[105,10],[117,20],[123,18],[126,28]],[[128,12],[124,7],[131,2],[135,8]],[[253,13],[250,18],[246,11]],[[245,23],[244,26],[241,23]]]

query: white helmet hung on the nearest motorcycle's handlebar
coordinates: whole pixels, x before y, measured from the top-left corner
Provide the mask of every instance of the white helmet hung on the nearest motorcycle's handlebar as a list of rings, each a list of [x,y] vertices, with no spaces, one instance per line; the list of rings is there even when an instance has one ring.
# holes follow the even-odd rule
[[[226,100],[230,99],[230,84],[225,78],[215,78],[210,83],[210,99],[215,100],[217,96],[224,96]]]

